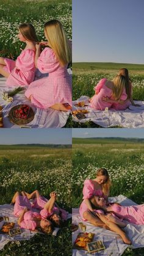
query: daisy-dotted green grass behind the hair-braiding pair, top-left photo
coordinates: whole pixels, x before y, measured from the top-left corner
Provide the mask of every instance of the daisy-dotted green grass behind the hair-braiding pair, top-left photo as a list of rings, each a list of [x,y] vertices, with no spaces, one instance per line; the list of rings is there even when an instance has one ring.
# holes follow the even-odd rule
[[[24,43],[17,38],[21,23],[32,23],[41,41],[45,40],[45,22],[56,18],[62,22],[68,38],[71,38],[71,0],[1,0],[0,10],[0,56],[16,59],[20,48],[24,48]]]

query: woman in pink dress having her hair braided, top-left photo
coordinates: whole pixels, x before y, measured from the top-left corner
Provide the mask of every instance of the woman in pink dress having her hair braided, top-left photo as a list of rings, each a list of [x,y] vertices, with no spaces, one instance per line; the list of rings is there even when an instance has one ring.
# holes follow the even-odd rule
[[[38,42],[32,24],[19,26],[18,38],[26,43],[20,56],[15,60],[0,57],[0,74],[7,78],[7,86],[28,86],[35,77],[35,44]]]

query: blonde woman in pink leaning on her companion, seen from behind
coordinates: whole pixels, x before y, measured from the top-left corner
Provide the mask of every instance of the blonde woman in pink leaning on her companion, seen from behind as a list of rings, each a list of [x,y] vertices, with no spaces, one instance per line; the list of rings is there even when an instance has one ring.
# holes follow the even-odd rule
[[[90,99],[90,106],[96,110],[114,108],[114,103],[121,106],[128,97],[125,85],[126,78],[122,75],[115,76],[112,81],[101,79],[95,87],[95,95]]]

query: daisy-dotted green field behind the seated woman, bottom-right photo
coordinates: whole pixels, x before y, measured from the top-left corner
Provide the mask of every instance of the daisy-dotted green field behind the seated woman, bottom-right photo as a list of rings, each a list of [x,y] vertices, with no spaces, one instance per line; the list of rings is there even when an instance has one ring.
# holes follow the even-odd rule
[[[123,194],[136,203],[144,203],[144,143],[114,139],[73,139],[72,206],[82,202],[86,178],[95,178],[96,170],[109,171],[112,187],[110,196]],[[89,144],[90,142],[90,144]],[[93,143],[92,143],[93,142]],[[143,255],[144,249],[127,249],[124,256]]]

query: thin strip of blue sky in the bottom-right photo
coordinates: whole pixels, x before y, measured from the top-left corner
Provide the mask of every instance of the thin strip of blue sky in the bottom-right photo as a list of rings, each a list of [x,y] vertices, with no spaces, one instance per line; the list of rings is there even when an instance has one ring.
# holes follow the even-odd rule
[[[74,128],[73,137],[137,137],[144,138],[144,129],[104,129],[104,128]]]

